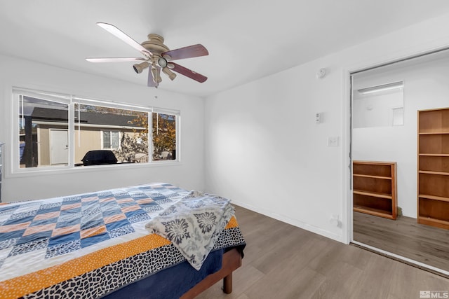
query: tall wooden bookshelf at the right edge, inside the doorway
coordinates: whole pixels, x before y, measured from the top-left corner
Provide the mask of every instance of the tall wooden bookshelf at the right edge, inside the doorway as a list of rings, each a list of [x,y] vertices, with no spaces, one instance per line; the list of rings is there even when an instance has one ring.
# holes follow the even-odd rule
[[[417,222],[449,229],[449,108],[417,117]]]

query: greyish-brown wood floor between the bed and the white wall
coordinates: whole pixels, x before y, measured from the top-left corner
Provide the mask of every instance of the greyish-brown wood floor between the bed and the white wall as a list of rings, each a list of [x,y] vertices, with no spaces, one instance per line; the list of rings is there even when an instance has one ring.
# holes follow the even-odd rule
[[[449,279],[236,207],[246,239],[231,294],[218,282],[198,299],[420,298]]]

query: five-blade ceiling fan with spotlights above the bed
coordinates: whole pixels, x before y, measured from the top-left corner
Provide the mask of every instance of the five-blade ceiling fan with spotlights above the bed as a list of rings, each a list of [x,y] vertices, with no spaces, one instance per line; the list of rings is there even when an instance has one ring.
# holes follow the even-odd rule
[[[140,51],[143,57],[86,58],[88,62],[140,62],[133,65],[134,71],[140,74],[144,69],[149,68],[147,85],[154,88],[157,88],[162,81],[161,70],[172,81],[176,78],[176,74],[173,73],[173,71],[198,81],[199,83],[203,83],[207,80],[206,76],[173,62],[173,60],[209,55],[208,50],[204,48],[204,46],[196,44],[170,50],[163,44],[163,37],[159,34],[148,34],[148,41],[144,41],[140,44],[114,25],[102,22],[98,22],[97,25]]]

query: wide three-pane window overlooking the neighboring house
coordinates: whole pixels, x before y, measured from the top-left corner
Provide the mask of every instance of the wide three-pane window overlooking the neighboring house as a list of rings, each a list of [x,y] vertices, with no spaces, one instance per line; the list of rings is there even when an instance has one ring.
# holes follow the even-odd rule
[[[13,109],[13,172],[102,164],[88,153],[107,153],[103,164],[179,160],[178,111],[22,89]]]

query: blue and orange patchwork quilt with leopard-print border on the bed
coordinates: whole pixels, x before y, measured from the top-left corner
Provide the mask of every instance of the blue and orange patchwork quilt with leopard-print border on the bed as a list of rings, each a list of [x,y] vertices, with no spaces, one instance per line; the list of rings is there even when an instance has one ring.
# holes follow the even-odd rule
[[[0,298],[99,298],[182,263],[145,225],[187,194],[150,183],[0,205]],[[241,244],[232,216],[213,249]]]

